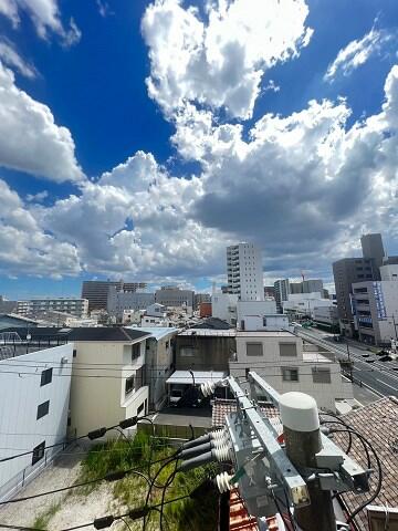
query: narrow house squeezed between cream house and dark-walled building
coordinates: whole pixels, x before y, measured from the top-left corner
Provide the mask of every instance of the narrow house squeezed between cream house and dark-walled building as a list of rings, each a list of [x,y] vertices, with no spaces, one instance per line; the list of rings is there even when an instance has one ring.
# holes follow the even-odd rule
[[[167,398],[166,381],[174,371],[174,346],[178,329],[136,327],[137,332],[150,334],[146,340],[146,382],[149,387],[149,408],[158,410]]]

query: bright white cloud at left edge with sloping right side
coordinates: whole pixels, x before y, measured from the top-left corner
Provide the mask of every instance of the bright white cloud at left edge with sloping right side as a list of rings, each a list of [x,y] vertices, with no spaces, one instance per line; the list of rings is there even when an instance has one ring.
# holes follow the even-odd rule
[[[0,62],[0,166],[56,183],[84,178],[66,127],[57,126],[50,108],[15,85]]]

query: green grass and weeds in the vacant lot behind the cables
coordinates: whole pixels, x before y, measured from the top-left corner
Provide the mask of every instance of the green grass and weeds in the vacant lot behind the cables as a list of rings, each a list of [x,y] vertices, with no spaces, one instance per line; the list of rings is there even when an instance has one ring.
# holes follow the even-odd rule
[[[104,451],[102,451],[104,450]],[[126,470],[128,468],[138,468],[148,475],[148,462],[156,461],[170,456],[175,451],[167,445],[167,439],[156,439],[150,448],[149,436],[145,431],[138,430],[136,437],[129,441],[118,439],[105,445],[96,446],[88,452],[82,462],[82,475],[78,482],[95,479],[105,476],[108,472]],[[151,477],[159,470],[163,464],[156,464],[150,467]],[[164,485],[168,477],[175,470],[175,462],[165,466],[159,473],[156,482]],[[199,467],[187,472],[177,473],[171,486],[167,489],[165,499],[178,498],[188,494],[198,487],[209,475],[214,475],[213,467]],[[90,486],[90,489],[82,492],[94,490],[100,483]],[[148,491],[148,483],[144,478],[136,475],[128,475],[119,481],[111,483],[113,488],[114,504],[112,511],[114,514],[123,512],[122,508],[137,508],[145,503]],[[161,501],[161,489],[153,489],[149,503],[156,504]],[[200,499],[185,499],[178,502],[165,506],[165,529],[167,531],[213,531],[217,529],[218,494],[210,489]],[[148,531],[159,529],[158,513],[151,511],[148,518]],[[128,521],[132,529],[140,529],[142,521]],[[137,525],[135,528],[135,525]]]

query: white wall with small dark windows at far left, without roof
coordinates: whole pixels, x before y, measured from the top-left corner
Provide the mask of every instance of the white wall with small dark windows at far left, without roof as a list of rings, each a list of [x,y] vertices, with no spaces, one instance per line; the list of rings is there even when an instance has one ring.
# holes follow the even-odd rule
[[[29,450],[42,442],[51,446],[65,440],[72,352],[73,344],[69,343],[0,361],[0,459],[20,454],[18,448]],[[61,364],[62,358],[66,363]],[[51,366],[52,382],[41,386],[42,371]],[[46,400],[48,415],[36,419],[39,404]],[[1,462],[0,500],[19,490],[23,478],[28,481],[61,449],[46,450],[34,467],[31,454]]]

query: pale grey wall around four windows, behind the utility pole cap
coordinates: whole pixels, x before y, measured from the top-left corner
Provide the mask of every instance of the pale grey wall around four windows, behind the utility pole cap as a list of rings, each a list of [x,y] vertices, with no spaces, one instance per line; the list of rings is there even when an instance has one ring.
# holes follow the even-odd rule
[[[261,343],[261,356],[248,356],[247,343]],[[281,356],[280,344],[295,343],[295,356]],[[310,358],[308,358],[310,357]],[[331,383],[317,384],[313,381],[313,367],[329,368]],[[282,368],[296,368],[298,382],[285,382]],[[245,376],[245,372],[253,369],[280,393],[300,391],[313,396],[320,408],[335,410],[337,398],[353,398],[353,388],[349,382],[343,381],[338,363],[329,362],[324,356],[313,353],[303,354],[303,342],[300,337],[287,332],[237,334],[237,362],[230,362],[230,373],[235,377]]]

